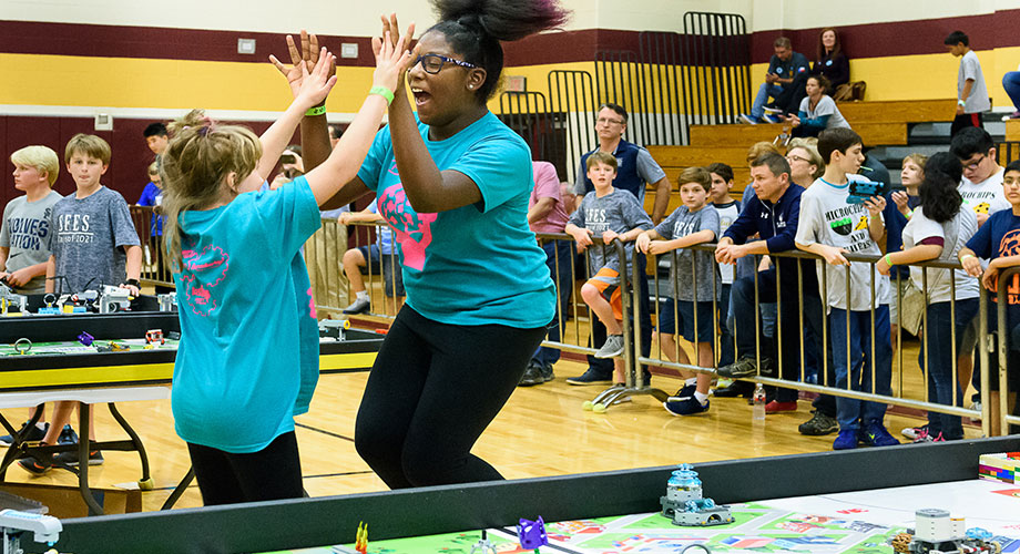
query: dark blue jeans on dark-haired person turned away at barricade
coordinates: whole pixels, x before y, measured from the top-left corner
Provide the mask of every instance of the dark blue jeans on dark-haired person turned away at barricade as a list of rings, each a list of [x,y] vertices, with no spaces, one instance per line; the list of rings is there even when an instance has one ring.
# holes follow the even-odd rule
[[[956,302],[956,347],[957,356],[963,341],[963,331],[978,315],[978,299],[968,298]],[[928,401],[945,406],[962,406],[963,393],[957,386],[956,398],[952,394],[956,378],[952,376],[952,328],[953,321],[948,301],[928,305]],[[921,348],[917,361],[925,367],[925,349]],[[949,416],[934,411],[928,412],[928,434],[946,440],[963,438],[963,425],[959,416]]]

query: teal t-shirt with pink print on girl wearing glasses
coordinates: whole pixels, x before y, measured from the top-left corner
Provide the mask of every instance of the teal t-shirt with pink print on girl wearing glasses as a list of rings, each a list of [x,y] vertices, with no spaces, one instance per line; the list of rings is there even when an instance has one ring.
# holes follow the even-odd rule
[[[534,187],[528,145],[492,113],[445,141],[430,141],[421,122],[418,130],[439,170],[467,175],[482,199],[438,214],[415,212],[397,173],[389,127],[376,134],[358,177],[376,192],[379,213],[400,243],[407,304],[450,325],[548,325],[555,289],[528,227]]]

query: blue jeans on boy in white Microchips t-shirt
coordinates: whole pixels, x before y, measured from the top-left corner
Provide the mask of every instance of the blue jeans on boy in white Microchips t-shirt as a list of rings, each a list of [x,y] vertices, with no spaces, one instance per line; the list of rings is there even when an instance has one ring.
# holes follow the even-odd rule
[[[832,308],[829,330],[833,338],[833,365],[836,387],[859,392],[892,396],[892,342],[889,340],[889,306],[875,308],[875,326],[870,311],[850,311],[847,336],[847,311]],[[871,360],[871,332],[875,332],[875,359]],[[849,346],[850,368],[847,368]],[[871,390],[871,369],[875,370],[875,390]],[[855,431],[873,422],[881,423],[886,416],[885,402],[868,402],[854,398],[836,397],[836,420],[839,431]]]

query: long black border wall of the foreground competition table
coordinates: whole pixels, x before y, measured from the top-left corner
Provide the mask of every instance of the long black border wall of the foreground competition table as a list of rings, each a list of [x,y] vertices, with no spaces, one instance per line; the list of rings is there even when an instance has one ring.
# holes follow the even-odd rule
[[[1020,450],[1020,437],[909,444],[695,464],[725,504],[976,479],[981,454]],[[677,460],[677,463],[683,460]],[[675,466],[430,486],[63,521],[61,552],[266,552],[655,512]],[[918,506],[929,507],[929,506]],[[26,552],[43,552],[28,545]]]

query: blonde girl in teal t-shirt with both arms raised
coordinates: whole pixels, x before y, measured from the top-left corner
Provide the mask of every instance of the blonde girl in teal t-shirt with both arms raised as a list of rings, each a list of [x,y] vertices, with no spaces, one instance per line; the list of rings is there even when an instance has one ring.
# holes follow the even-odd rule
[[[193,111],[163,154],[165,239],[182,338],[173,414],[206,505],[303,495],[294,416],[318,377],[318,334],[299,249],[318,205],[354,177],[410,58],[374,40],[374,88],[326,162],[257,192],[308,109],[336,83],[334,58],[300,64],[295,99],[261,137]],[[276,62],[278,64],[278,62]]]

